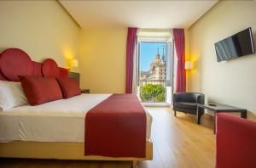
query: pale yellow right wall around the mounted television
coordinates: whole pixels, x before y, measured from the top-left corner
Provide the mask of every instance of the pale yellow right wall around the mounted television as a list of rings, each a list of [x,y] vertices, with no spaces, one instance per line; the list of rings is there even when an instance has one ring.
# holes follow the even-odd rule
[[[252,27],[256,40],[256,2],[220,1],[189,28],[189,91],[204,92],[208,102],[235,105],[256,115],[256,54],[218,63],[214,42]]]

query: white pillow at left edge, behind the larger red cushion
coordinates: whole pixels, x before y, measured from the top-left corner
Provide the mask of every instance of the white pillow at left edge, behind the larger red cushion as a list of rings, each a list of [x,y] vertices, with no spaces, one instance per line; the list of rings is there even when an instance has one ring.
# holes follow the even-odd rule
[[[20,82],[0,81],[0,111],[27,104]]]

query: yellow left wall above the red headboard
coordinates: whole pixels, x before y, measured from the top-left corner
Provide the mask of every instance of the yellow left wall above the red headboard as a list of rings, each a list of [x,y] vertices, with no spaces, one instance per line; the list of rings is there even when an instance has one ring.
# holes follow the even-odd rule
[[[57,1],[0,1],[0,52],[21,48],[32,60],[78,55],[79,26]]]

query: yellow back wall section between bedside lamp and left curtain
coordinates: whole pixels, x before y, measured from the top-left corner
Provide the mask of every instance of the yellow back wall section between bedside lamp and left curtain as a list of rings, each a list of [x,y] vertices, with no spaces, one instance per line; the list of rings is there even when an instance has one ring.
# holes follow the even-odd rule
[[[84,29],[79,39],[81,87],[97,93],[125,92],[127,28]]]

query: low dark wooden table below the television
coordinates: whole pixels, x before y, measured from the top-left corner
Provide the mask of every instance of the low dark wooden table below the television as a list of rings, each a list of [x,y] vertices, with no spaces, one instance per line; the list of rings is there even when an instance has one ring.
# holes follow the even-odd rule
[[[215,125],[216,125],[216,115],[219,112],[225,112],[225,113],[241,113],[241,118],[246,119],[247,118],[247,109],[241,109],[234,106],[230,106],[227,104],[197,104],[197,112],[196,112],[196,121],[197,124],[201,123],[201,114],[199,114],[200,110],[202,109],[208,109],[214,113],[214,127],[213,127],[213,133],[215,134]]]

